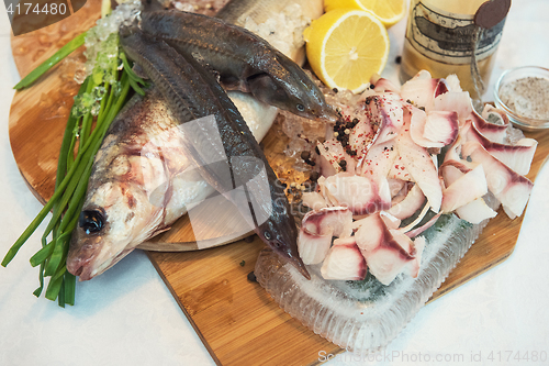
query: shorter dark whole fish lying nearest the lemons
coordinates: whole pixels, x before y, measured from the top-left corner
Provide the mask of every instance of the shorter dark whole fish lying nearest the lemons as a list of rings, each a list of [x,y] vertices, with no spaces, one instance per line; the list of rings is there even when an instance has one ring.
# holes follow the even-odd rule
[[[177,11],[142,14],[144,32],[193,55],[219,73],[226,88],[316,120],[335,120],[335,111],[305,71],[268,42],[220,19]]]

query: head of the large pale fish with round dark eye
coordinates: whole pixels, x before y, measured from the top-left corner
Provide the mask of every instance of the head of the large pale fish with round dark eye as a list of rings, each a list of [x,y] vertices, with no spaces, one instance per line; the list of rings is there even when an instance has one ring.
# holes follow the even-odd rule
[[[161,208],[127,182],[109,181],[86,200],[67,255],[67,270],[89,280],[158,232]]]

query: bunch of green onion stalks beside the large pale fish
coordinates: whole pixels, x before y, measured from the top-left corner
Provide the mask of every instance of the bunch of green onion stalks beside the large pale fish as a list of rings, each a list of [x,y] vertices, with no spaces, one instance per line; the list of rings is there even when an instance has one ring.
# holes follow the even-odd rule
[[[64,57],[83,45],[86,36],[86,32],[76,36],[23,78],[15,89],[30,87]],[[131,89],[144,95],[142,86],[146,86],[146,82],[132,71],[132,66],[120,49],[117,33],[111,33],[101,44],[91,75],[75,97],[61,142],[54,195],[2,260],[5,267],[47,214],[52,213],[42,236],[42,248],[30,259],[33,267],[40,267],[40,286],[33,292],[36,297],[41,296],[45,278],[49,277],[45,298],[53,301],[57,299],[60,307],[75,304],[76,277],[67,271],[66,259],[93,159]]]

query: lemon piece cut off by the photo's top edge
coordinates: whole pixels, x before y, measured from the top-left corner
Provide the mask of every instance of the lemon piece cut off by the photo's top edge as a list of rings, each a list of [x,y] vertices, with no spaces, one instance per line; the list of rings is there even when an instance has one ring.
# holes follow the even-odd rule
[[[371,11],[385,27],[390,27],[404,18],[406,0],[324,0],[326,12],[345,8]]]

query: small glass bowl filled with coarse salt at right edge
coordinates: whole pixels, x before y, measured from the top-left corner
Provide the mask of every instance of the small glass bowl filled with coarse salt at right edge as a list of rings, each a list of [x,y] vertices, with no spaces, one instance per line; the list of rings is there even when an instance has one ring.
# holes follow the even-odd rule
[[[525,131],[549,127],[549,69],[522,66],[502,74],[494,88],[495,106]]]

